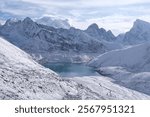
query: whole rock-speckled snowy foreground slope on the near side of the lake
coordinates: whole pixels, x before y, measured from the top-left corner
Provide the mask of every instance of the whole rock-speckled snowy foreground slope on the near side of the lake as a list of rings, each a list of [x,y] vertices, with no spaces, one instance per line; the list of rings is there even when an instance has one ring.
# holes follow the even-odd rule
[[[2,38],[0,64],[0,99],[150,99],[103,77],[62,80]]]

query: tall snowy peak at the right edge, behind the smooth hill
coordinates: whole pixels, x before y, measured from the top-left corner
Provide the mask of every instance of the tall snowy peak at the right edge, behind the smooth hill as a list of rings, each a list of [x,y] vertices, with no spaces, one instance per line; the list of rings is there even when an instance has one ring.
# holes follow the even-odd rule
[[[124,35],[122,41],[129,45],[150,41],[150,23],[137,19],[131,30]]]

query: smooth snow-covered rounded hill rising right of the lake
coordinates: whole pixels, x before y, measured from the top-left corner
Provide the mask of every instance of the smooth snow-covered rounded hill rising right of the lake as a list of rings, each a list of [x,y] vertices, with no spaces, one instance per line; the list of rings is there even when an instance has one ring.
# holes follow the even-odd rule
[[[89,64],[94,67],[121,66],[132,72],[150,71],[150,42],[104,53]]]

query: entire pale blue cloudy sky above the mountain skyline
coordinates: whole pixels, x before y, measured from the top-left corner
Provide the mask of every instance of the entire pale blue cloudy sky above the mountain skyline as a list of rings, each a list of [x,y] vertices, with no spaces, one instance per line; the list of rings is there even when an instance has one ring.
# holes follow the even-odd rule
[[[150,0],[0,0],[0,22],[9,18],[53,16],[77,28],[97,23],[117,35],[136,19],[150,22]]]

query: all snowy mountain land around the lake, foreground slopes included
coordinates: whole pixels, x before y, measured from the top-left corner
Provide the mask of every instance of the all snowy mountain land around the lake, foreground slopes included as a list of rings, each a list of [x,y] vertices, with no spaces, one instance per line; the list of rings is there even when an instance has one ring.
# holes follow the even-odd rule
[[[116,37],[95,23],[43,22],[0,25],[0,99],[150,99],[150,23],[138,19]],[[62,79],[47,62],[85,62],[100,75]]]

